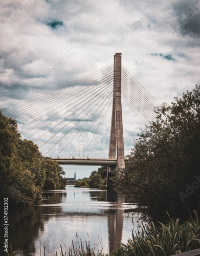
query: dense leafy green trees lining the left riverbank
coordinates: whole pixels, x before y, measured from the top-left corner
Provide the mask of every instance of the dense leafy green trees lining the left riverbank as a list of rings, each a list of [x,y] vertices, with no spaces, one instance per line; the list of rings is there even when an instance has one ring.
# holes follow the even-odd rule
[[[17,122],[0,111],[0,196],[9,205],[32,205],[42,189],[65,188],[62,167],[43,157],[31,140],[22,140]]]

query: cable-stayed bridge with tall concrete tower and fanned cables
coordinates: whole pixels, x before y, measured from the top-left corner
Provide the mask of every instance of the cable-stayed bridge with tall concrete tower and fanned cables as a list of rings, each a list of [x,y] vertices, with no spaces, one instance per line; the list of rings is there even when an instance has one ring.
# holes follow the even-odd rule
[[[159,105],[122,66],[121,56],[114,55],[114,65],[2,110],[17,120],[23,138],[33,140],[44,156],[60,165],[107,165],[107,187],[112,185],[112,170],[125,167],[122,99],[145,124]],[[111,106],[108,157],[99,157],[101,150],[91,157],[93,148],[97,151],[103,144],[99,134]],[[75,157],[82,145],[83,157]],[[62,157],[66,151],[70,156]]]

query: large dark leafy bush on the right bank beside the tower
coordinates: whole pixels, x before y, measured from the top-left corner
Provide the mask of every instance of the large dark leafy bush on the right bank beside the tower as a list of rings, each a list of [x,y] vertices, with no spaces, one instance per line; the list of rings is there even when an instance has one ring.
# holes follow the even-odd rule
[[[200,203],[200,86],[156,113],[114,182],[152,220],[187,219]]]

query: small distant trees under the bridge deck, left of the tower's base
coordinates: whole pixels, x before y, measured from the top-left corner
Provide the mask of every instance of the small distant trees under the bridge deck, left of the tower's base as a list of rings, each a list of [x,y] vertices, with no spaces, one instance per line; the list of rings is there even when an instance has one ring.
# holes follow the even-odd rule
[[[107,166],[94,170],[89,178],[77,180],[75,187],[106,188]]]

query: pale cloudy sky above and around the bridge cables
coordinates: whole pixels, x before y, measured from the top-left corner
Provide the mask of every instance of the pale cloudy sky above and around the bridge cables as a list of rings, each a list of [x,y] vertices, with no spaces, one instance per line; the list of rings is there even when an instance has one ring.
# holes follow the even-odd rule
[[[160,103],[200,83],[198,0],[8,0],[0,12],[1,108],[112,65],[116,52]],[[122,103],[128,154],[144,125]]]

